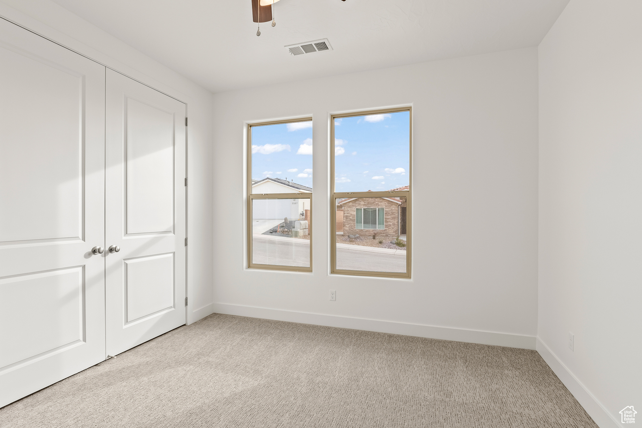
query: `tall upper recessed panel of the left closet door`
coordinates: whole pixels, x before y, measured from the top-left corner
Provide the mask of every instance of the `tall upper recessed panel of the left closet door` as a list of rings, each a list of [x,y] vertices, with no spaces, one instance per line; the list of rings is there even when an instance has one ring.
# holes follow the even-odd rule
[[[83,76],[15,46],[0,48],[0,64],[0,175],[12,182],[2,187],[0,222],[13,225],[0,229],[0,242],[82,239]]]

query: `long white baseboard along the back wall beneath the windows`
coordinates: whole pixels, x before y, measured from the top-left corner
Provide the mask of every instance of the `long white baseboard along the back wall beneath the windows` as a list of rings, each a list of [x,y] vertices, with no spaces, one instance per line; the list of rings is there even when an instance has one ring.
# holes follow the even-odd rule
[[[459,342],[481,343],[482,345],[535,350],[535,337],[520,336],[519,334],[452,329],[449,327],[435,327],[433,325],[370,320],[367,318],[352,318],[311,312],[284,311],[282,309],[224,303],[215,303],[214,312],[219,314],[249,316],[251,318],[265,318],[267,320],[341,327],[343,329],[403,334],[405,336],[417,336],[419,338],[454,340]]]

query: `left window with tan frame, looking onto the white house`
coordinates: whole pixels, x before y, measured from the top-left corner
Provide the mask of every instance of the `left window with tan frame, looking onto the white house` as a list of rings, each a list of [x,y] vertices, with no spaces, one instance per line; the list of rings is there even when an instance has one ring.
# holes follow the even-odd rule
[[[248,268],[312,271],[312,119],[248,125]]]

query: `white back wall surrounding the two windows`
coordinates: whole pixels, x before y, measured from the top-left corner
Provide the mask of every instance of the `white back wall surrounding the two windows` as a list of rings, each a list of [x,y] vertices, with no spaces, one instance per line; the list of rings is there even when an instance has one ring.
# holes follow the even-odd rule
[[[329,114],[397,105],[413,106],[413,278],[329,275]],[[247,270],[245,123],[305,116],[314,272]],[[534,348],[536,47],[215,94],[214,144],[216,312]]]

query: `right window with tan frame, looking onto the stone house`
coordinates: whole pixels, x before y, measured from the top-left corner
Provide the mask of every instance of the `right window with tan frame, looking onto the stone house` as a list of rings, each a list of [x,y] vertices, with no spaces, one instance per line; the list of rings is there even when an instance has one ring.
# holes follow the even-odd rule
[[[332,273],[411,276],[411,113],[332,116]]]

